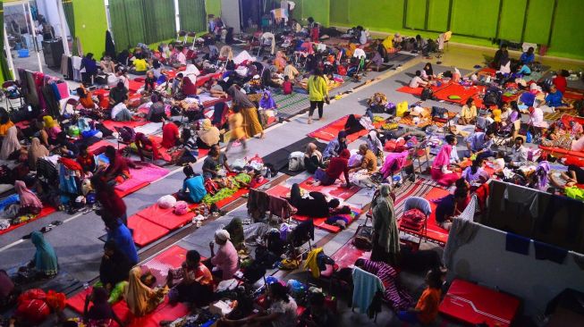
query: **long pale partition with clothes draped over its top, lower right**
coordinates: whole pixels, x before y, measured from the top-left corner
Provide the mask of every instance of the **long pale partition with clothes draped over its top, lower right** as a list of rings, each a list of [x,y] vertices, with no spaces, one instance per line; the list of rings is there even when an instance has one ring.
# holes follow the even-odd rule
[[[584,291],[584,270],[571,253],[563,264],[536,260],[533,241],[529,256],[523,256],[505,250],[504,231],[478,226],[475,237],[454,253],[449,277],[475,281],[521,298],[529,315],[542,313],[547,302],[563,289]]]

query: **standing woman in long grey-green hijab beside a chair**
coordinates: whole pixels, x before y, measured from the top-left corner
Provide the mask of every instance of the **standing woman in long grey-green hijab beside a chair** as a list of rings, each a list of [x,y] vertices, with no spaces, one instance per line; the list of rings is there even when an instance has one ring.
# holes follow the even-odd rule
[[[373,249],[371,261],[397,264],[400,236],[395,221],[394,200],[390,184],[381,184],[371,202],[373,213]]]

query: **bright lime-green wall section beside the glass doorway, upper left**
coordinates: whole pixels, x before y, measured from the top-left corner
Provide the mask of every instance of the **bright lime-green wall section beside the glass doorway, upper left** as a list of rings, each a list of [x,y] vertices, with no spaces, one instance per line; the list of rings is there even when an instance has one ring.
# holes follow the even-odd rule
[[[103,0],[73,0],[73,11],[83,53],[100,57],[106,50],[106,4]]]

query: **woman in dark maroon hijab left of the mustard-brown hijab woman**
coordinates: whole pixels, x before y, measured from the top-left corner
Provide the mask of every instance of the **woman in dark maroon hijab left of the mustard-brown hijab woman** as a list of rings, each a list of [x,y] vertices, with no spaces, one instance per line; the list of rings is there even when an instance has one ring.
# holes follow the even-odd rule
[[[104,288],[93,288],[91,296],[85,298],[83,307],[83,322],[89,326],[110,326],[112,321],[120,326],[124,324],[120,318],[115,315],[114,310],[107,302],[107,290]],[[89,302],[93,305],[89,308]]]

